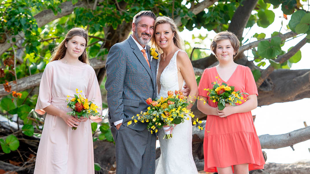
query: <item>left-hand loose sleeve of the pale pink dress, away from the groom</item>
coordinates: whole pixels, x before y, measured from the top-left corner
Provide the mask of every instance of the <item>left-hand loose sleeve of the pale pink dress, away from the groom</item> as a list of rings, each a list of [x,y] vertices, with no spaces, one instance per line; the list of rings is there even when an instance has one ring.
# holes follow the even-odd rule
[[[52,82],[53,67],[48,63],[41,77],[38,101],[35,108],[35,111],[40,115],[45,113],[44,108],[51,105]]]

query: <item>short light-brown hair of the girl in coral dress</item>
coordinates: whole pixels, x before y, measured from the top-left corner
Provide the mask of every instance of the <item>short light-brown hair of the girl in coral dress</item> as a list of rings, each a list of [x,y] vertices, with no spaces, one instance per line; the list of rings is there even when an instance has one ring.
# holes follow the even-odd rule
[[[235,59],[236,55],[238,54],[238,51],[239,51],[239,46],[240,46],[240,41],[238,39],[238,37],[232,33],[232,32],[229,32],[229,31],[222,31],[220,33],[217,33],[215,35],[215,37],[213,38],[213,41],[211,42],[211,51],[215,54],[215,57],[216,56],[216,46],[217,46],[217,42],[218,41],[221,41],[221,40],[225,40],[225,39],[228,39],[231,44],[232,44],[232,48],[234,49],[234,51],[236,52],[235,55],[233,55],[233,59]]]

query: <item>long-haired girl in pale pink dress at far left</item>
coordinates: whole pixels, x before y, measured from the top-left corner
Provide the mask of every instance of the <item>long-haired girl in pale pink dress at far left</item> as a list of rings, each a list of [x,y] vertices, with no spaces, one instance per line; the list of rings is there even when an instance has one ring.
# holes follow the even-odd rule
[[[67,115],[71,109],[65,102],[67,95],[73,98],[78,89],[82,90],[79,94],[102,106],[97,77],[87,58],[87,41],[87,31],[72,28],[55,48],[42,74],[35,111],[47,114],[34,174],[95,173],[90,119],[95,122],[102,119]]]

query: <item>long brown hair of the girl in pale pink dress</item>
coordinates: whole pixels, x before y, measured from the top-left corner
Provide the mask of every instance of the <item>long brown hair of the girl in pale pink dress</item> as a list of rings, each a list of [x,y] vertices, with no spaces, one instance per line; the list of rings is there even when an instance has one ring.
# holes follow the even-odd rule
[[[83,28],[72,28],[71,30],[68,31],[68,33],[64,37],[64,40],[61,41],[61,43],[54,48],[54,52],[51,56],[51,62],[54,60],[60,60],[60,59],[64,58],[64,55],[66,55],[66,51],[67,51],[67,48],[65,47],[64,44],[66,42],[68,43],[68,41],[70,39],[72,39],[74,36],[80,36],[86,40],[85,49],[84,49],[82,55],[80,55],[80,57],[78,57],[78,59],[79,59],[79,61],[81,61],[83,63],[89,64],[88,55],[86,52],[87,41],[88,41],[88,32],[86,30],[84,30]]]

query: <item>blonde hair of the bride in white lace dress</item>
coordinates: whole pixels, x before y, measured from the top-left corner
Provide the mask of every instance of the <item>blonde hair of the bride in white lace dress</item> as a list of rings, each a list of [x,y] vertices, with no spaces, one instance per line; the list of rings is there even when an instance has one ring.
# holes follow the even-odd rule
[[[181,37],[179,35],[179,30],[178,30],[178,27],[175,24],[175,21],[173,19],[167,17],[167,16],[157,17],[155,22],[154,22],[154,35],[155,35],[155,32],[156,32],[156,26],[158,24],[170,24],[171,31],[174,33],[173,43],[179,49],[184,50],[184,44],[183,44],[183,41],[182,41],[182,39],[181,39]],[[159,47],[159,45],[155,41],[155,36],[153,36],[153,38],[151,40],[151,46],[155,47],[156,50],[159,53],[162,53],[162,49]]]

